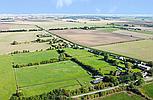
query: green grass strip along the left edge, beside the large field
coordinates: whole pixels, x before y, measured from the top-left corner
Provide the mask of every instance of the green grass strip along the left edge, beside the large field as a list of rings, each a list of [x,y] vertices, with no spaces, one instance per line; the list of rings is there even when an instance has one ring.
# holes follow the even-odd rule
[[[9,56],[0,56],[0,100],[8,100],[15,93],[16,84]]]

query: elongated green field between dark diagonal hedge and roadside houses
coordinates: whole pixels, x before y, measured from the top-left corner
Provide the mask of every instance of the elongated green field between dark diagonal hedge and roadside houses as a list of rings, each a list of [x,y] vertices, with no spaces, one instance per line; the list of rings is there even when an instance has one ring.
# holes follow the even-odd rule
[[[109,74],[110,71],[117,70],[115,66],[105,62],[102,56],[95,56],[86,50],[65,49],[65,51],[69,55],[78,59],[80,62],[99,70],[103,74]]]

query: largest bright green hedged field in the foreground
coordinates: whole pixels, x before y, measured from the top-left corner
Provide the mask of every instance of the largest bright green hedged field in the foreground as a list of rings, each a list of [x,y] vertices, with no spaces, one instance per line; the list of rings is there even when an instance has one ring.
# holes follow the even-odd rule
[[[85,70],[71,61],[15,70],[17,82],[25,96],[37,95],[57,88],[75,89],[80,87],[78,81],[82,85],[87,85],[91,80]]]

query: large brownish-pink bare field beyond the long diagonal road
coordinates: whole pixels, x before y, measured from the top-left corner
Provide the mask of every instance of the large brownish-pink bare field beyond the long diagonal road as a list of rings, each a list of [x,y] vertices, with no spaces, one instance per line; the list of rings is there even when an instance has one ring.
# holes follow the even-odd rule
[[[75,43],[86,46],[104,45],[116,42],[132,41],[139,39],[123,34],[113,34],[109,32],[91,30],[58,30],[51,31]]]

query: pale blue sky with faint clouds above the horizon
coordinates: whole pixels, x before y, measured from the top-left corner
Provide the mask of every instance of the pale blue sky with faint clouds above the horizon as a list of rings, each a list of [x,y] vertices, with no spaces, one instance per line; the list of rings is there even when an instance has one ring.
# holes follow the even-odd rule
[[[153,14],[153,0],[1,0],[6,13]]]

